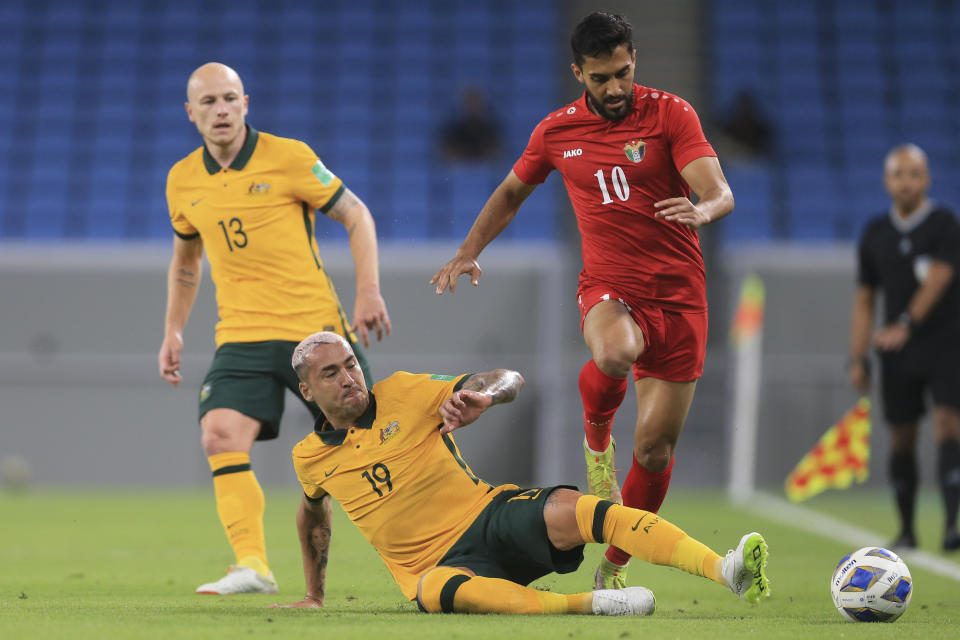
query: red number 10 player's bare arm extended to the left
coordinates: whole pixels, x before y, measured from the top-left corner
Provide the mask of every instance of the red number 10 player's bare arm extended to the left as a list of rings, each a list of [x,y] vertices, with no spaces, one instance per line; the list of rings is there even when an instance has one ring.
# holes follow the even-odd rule
[[[477,286],[483,274],[477,262],[480,252],[510,224],[520,205],[536,188],[535,184],[522,182],[512,170],[507,174],[483,205],[457,255],[430,279],[430,284],[437,285],[437,295],[443,294],[447,287],[451,293],[456,291],[457,278],[465,273],[470,274],[470,282]]]

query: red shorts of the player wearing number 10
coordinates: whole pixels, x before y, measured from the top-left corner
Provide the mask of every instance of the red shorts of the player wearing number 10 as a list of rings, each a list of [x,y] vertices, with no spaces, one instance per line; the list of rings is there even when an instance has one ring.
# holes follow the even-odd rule
[[[618,300],[643,333],[644,349],[633,363],[633,379],[657,378],[690,382],[703,375],[707,353],[707,312],[667,311],[608,285],[581,282],[577,291],[580,331],[583,320],[598,302]]]

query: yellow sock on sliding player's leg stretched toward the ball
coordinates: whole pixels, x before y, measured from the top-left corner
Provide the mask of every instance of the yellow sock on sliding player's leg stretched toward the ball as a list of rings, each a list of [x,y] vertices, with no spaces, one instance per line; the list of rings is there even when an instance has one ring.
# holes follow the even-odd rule
[[[588,542],[606,542],[641,560],[726,584],[718,569],[720,556],[655,513],[585,495],[577,500],[576,516]]]

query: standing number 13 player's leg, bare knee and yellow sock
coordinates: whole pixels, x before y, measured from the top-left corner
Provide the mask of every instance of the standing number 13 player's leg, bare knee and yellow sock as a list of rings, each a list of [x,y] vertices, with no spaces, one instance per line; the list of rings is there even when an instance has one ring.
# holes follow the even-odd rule
[[[263,489],[250,467],[260,422],[233,409],[211,409],[200,420],[202,444],[213,474],[217,514],[236,564],[270,573],[263,533]]]

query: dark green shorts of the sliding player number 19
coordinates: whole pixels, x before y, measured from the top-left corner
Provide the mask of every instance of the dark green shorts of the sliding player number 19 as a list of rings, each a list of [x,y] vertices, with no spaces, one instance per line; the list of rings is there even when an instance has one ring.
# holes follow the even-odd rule
[[[550,543],[543,508],[558,485],[508,489],[480,512],[438,566],[466,567],[478,576],[528,585],[548,573],[572,573],[583,562],[583,545],[561,551]]]

